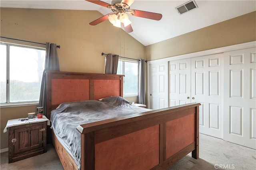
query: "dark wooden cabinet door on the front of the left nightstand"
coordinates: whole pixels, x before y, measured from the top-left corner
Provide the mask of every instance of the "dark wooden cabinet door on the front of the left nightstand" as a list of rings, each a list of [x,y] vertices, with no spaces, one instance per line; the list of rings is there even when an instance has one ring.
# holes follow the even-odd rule
[[[14,138],[17,141],[14,145],[14,154],[42,147],[43,133],[40,129],[43,129],[43,125],[15,129]]]

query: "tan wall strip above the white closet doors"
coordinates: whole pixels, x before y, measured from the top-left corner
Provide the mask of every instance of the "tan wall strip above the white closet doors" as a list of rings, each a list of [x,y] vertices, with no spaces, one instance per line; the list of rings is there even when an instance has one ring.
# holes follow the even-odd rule
[[[256,40],[256,12],[146,46],[148,61]]]

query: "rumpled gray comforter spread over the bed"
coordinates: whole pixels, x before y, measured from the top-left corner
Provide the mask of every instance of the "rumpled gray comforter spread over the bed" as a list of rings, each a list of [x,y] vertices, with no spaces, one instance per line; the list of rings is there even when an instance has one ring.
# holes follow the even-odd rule
[[[80,133],[76,130],[78,125],[149,110],[131,105],[126,99],[119,96],[111,96],[101,101],[86,100],[63,103],[51,112],[51,128],[62,139],[66,146],[64,147],[70,150],[80,169]]]

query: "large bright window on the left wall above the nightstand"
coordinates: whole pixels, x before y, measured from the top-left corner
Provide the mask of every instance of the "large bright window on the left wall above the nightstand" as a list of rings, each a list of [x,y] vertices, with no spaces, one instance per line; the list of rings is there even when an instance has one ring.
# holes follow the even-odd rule
[[[38,102],[44,63],[44,48],[1,42],[0,103]]]

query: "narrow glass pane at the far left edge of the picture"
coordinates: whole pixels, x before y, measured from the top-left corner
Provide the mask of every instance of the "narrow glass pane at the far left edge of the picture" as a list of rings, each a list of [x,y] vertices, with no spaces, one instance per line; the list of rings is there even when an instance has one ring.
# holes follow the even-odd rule
[[[0,103],[6,103],[6,47],[0,45]]]

